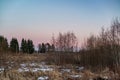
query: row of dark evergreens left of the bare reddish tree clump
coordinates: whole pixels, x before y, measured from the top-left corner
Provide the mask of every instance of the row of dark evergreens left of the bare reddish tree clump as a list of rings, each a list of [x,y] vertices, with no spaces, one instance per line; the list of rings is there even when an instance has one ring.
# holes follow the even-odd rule
[[[48,51],[54,51],[54,45],[49,43],[38,44],[38,51],[35,51],[33,41],[28,39],[21,40],[21,46],[18,43],[17,38],[12,38],[10,44],[8,44],[7,38],[0,36],[0,52],[12,52],[12,53],[29,53],[34,52],[45,53]]]

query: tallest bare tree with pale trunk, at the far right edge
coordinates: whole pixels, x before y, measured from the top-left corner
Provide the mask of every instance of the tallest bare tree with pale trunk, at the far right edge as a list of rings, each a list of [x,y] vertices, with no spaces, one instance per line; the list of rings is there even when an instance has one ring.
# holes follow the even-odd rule
[[[109,31],[109,40],[111,43],[112,54],[115,59],[116,66],[120,65],[120,22],[114,20]]]

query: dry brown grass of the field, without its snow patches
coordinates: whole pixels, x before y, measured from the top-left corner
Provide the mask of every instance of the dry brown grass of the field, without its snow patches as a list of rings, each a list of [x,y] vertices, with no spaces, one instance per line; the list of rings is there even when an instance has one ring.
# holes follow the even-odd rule
[[[71,58],[72,57],[72,58]],[[49,54],[12,54],[4,53],[0,56],[0,66],[9,66],[6,62],[14,62],[14,66],[10,70],[4,70],[0,73],[0,80],[37,80],[40,76],[48,76],[49,80],[89,80],[96,79],[97,77],[106,77],[108,80],[120,80],[120,68],[116,70],[116,73],[109,68],[105,68],[101,72],[92,72],[91,70],[84,69],[83,71],[75,70],[75,63],[80,60],[78,54],[65,54],[56,55],[54,53]],[[19,65],[21,63],[32,62],[46,62],[47,65],[54,68],[53,71],[38,71],[38,72],[18,72]],[[63,62],[63,63],[62,63]],[[57,65],[60,63],[59,65]],[[78,66],[78,65],[77,65]],[[61,69],[68,68],[71,72],[61,73]],[[79,78],[72,78],[70,75],[81,75]]]

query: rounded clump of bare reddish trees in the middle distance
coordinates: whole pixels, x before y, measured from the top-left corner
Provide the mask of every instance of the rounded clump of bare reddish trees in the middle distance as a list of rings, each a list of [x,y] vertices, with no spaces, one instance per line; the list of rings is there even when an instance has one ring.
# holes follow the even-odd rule
[[[77,48],[77,37],[73,32],[59,33],[56,38],[56,48],[58,51],[73,52]]]

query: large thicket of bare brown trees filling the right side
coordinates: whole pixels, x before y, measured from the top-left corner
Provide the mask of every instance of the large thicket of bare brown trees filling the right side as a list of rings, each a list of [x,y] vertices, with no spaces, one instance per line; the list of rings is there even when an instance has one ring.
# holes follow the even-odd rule
[[[81,60],[85,65],[99,67],[120,66],[120,21],[114,20],[111,27],[101,29],[97,36],[91,35],[85,42],[85,54]]]

